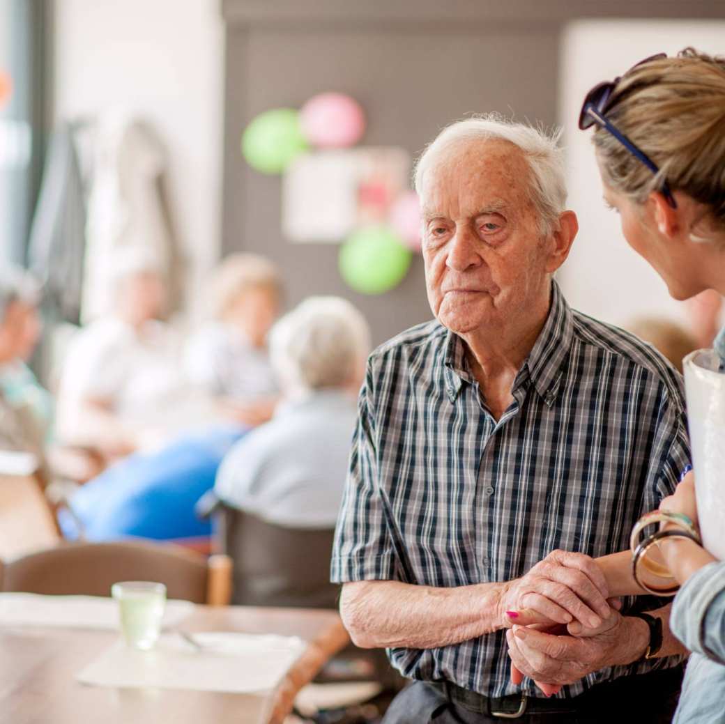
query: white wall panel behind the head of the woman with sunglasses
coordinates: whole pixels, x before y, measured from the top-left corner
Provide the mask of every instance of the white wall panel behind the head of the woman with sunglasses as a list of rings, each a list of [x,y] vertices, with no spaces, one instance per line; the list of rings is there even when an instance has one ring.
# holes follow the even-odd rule
[[[579,237],[561,272],[573,307],[618,325],[640,315],[686,322],[658,275],[637,256],[619,228],[619,217],[602,203],[592,149],[592,131],[577,128],[581,101],[601,80],[621,75],[658,52],[686,46],[713,54],[725,51],[725,22],[581,21],[563,36],[560,110],[567,149],[569,207],[579,215]]]

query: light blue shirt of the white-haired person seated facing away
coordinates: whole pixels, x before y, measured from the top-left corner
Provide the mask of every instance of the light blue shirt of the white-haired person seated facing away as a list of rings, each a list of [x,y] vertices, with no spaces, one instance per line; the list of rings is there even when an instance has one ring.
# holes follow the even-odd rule
[[[284,404],[233,446],[216,494],[270,523],[334,528],[356,419],[355,399],[339,390]]]

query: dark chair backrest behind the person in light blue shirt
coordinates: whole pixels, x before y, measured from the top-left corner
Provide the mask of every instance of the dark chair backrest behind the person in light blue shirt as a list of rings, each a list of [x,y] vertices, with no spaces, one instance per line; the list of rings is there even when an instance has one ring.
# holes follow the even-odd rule
[[[339,586],[330,583],[334,528],[286,528],[224,505],[216,516],[220,548],[233,559],[233,603],[337,607]]]

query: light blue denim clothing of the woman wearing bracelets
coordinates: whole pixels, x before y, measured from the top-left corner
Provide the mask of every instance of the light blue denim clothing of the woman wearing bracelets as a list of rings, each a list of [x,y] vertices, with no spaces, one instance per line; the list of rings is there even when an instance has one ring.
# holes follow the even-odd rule
[[[692,652],[674,724],[725,724],[725,562],[700,568],[682,586],[670,627]]]

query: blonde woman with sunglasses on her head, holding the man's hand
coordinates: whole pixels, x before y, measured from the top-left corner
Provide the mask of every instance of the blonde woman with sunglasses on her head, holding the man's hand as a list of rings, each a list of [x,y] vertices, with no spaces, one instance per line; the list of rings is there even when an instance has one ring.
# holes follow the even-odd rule
[[[693,49],[646,59],[593,88],[579,126],[595,127],[605,201],[621,216],[629,245],[670,294],[689,299],[709,288],[725,294],[725,59]],[[715,347],[725,357],[725,330]],[[692,473],[660,510],[697,520]],[[681,584],[671,629],[693,652],[675,722],[725,722],[725,562],[689,538],[665,538],[659,547]],[[600,566],[610,594],[641,592],[628,553],[600,559]],[[535,617],[523,612],[516,620]],[[575,626],[570,633],[581,635]]]

